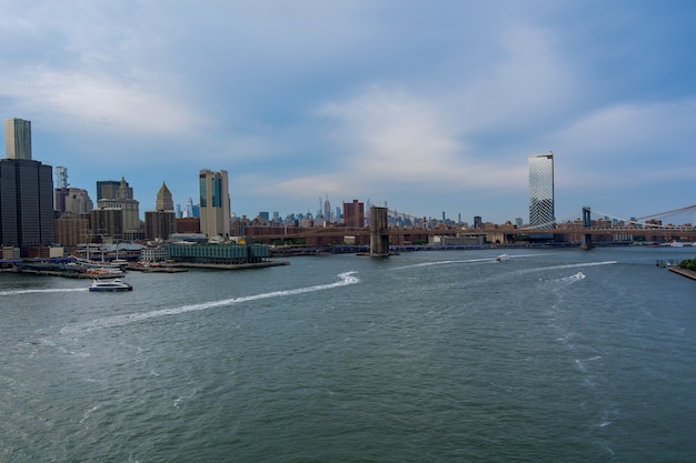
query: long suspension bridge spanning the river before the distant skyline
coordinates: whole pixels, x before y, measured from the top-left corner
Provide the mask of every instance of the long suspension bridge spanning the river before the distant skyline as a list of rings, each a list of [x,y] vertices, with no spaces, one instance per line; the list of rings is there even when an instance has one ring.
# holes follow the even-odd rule
[[[387,223],[382,223],[382,227],[378,229],[369,223],[365,227],[330,223],[321,228],[247,225],[240,234],[251,242],[307,248],[346,244],[369,246],[370,235],[375,236],[375,234],[388,238],[391,246],[565,243],[589,248],[612,243],[692,243],[696,241],[696,228],[693,225],[696,205],[632,219],[617,218],[585,207],[570,219],[534,228],[518,227],[509,222],[506,224],[484,223],[477,228],[469,228],[443,221],[421,221],[418,225],[405,227],[399,223],[411,221],[398,219],[414,219],[412,217],[398,215],[395,211],[388,212]]]

